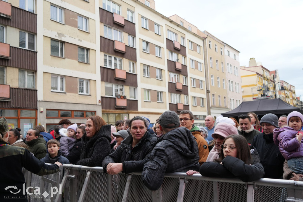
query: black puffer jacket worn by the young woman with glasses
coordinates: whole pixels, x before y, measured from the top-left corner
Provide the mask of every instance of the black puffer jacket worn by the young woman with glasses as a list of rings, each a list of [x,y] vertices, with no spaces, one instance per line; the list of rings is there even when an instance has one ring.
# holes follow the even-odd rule
[[[205,162],[200,167],[200,173],[206,177],[237,177],[243,182],[251,182],[264,176],[264,169],[259,160],[257,150],[251,146],[251,165],[231,156],[226,156],[222,164],[217,162]]]

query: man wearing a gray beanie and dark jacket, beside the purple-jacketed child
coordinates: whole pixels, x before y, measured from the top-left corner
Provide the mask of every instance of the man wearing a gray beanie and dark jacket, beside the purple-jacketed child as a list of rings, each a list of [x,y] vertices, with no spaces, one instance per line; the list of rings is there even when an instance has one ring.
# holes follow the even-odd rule
[[[265,171],[264,178],[283,179],[283,163],[285,159],[273,139],[274,129],[278,128],[278,116],[266,114],[261,118],[260,124],[263,133],[256,135],[251,145],[256,147],[259,153],[260,162]]]

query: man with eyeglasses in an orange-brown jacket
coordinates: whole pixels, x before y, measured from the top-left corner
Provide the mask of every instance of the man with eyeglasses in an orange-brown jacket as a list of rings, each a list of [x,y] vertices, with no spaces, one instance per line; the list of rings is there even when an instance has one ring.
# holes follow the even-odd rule
[[[199,149],[199,163],[202,165],[208,157],[209,150],[206,140],[201,135],[201,131],[198,126],[194,125],[194,115],[189,110],[183,110],[179,115],[180,126],[183,126],[190,130],[192,135],[195,137],[195,140],[198,143]]]

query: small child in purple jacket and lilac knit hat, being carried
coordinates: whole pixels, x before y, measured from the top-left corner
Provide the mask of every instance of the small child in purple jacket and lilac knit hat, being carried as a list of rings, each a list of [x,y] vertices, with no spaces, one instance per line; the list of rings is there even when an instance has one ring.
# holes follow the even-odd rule
[[[288,126],[274,130],[274,142],[279,146],[288,167],[296,174],[303,174],[303,115],[293,111],[287,116]]]

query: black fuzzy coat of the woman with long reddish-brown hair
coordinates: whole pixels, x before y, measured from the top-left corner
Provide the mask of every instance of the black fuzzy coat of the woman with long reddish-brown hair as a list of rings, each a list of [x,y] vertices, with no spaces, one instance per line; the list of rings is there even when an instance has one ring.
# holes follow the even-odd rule
[[[111,138],[111,125],[102,126],[101,129],[89,139],[86,133],[82,136],[82,150],[80,160],[77,165],[82,166],[102,166],[102,161],[110,152],[109,143]]]

